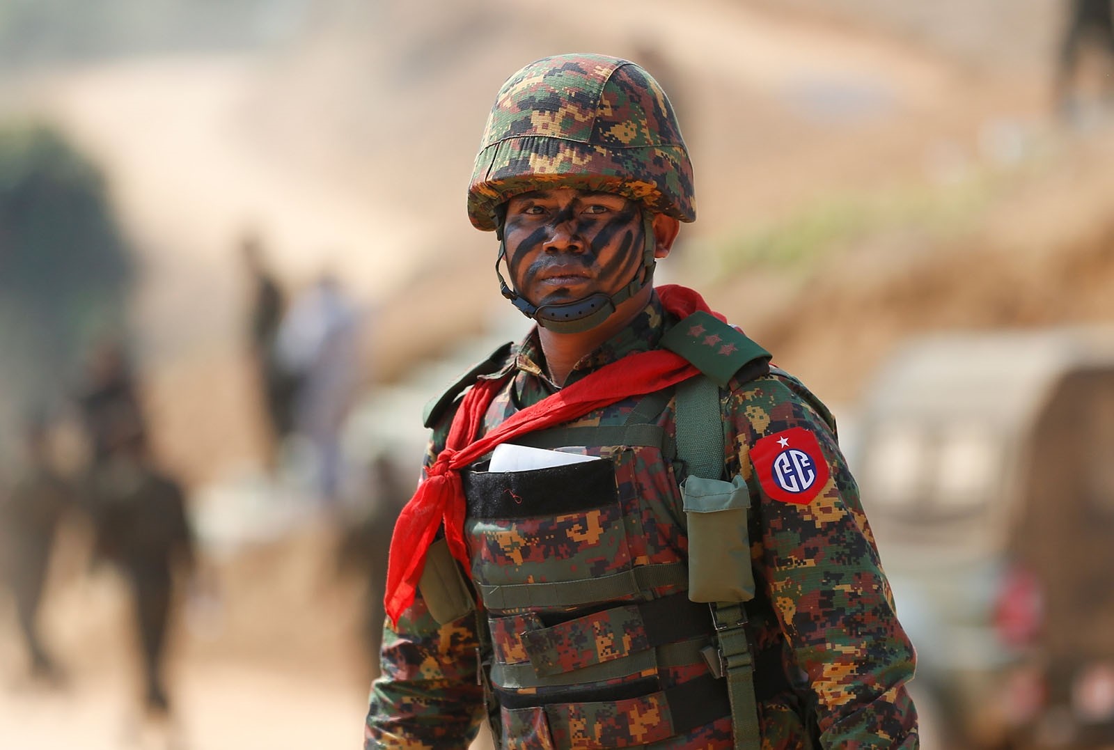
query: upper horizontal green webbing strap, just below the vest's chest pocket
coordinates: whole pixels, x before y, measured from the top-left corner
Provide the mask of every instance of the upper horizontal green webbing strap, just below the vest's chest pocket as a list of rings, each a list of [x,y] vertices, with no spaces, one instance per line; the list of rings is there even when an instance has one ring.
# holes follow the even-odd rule
[[[498,611],[580,606],[635,596],[658,586],[682,586],[687,583],[688,569],[684,563],[666,563],[643,565],[602,578],[507,586],[481,584],[479,590],[487,608]]]

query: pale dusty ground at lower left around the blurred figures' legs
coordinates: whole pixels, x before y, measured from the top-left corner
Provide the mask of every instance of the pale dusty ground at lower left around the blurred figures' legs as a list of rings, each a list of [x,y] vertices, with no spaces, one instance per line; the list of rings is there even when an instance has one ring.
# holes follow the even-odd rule
[[[63,542],[42,620],[65,681],[52,686],[22,676],[23,656],[4,616],[0,747],[359,747],[370,684],[361,590],[330,567],[326,529],[303,528],[231,559],[209,558],[214,585],[177,603],[169,720],[139,710],[124,582],[109,569],[85,569],[79,528],[67,529]]]

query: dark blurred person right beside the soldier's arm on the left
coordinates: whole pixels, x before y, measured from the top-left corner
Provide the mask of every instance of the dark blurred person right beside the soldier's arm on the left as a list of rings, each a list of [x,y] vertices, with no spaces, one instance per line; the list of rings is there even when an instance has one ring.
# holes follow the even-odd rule
[[[356,574],[365,585],[362,642],[378,674],[383,635],[383,594],[387,555],[394,522],[413,494],[412,477],[390,450],[380,449],[371,461],[365,487],[369,503],[341,536],[336,561],[341,572]],[[374,676],[374,675],[372,675]]]

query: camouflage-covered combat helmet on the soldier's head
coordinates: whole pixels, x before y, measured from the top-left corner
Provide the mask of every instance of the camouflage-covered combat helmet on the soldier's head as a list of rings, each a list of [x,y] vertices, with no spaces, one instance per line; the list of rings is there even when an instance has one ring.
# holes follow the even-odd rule
[[[692,163],[665,91],[634,62],[604,55],[543,58],[507,79],[476,156],[468,216],[495,230],[500,205],[545,187],[616,193],[696,218]]]

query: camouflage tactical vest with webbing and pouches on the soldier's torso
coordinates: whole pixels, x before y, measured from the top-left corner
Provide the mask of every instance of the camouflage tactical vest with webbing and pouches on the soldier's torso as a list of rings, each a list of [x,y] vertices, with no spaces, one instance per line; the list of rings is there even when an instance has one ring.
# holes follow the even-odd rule
[[[737,354],[704,355],[711,332]],[[750,496],[722,476],[720,389],[765,373],[770,355],[705,313],[662,345],[704,374],[634,399],[620,425],[515,439],[596,460],[514,473],[485,461],[462,475],[478,630],[489,639],[479,673],[500,747],[760,744],[743,607],[754,594]],[[675,436],[655,423],[671,402]],[[638,481],[639,466],[659,471]],[[651,534],[675,544],[646,545]],[[457,573],[443,546],[431,551],[420,585],[441,622],[470,605]]]

